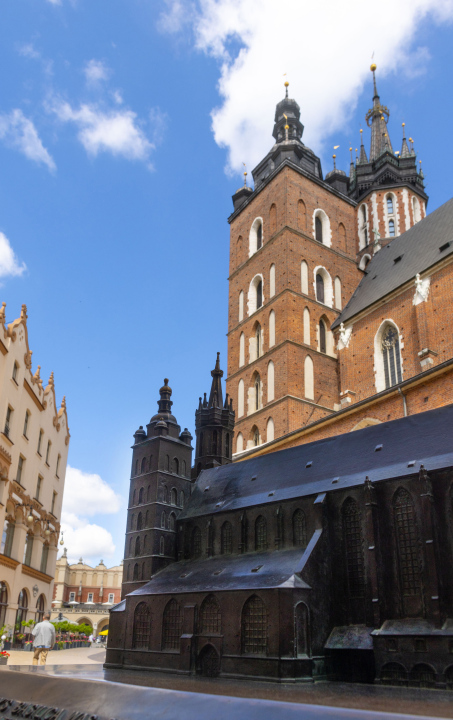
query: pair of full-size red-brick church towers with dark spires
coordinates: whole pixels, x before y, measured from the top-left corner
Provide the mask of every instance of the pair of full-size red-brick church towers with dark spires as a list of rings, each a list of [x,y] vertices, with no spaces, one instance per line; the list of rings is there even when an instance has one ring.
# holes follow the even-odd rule
[[[403,129],[394,153],[376,88],[349,176],[302,142],[297,102],[277,104],[275,144],[233,196],[227,391],[236,408],[233,453],[280,438],[351,402],[340,387],[332,324],[371,257],[426,214],[423,174]],[[410,141],[411,142],[411,141]]]

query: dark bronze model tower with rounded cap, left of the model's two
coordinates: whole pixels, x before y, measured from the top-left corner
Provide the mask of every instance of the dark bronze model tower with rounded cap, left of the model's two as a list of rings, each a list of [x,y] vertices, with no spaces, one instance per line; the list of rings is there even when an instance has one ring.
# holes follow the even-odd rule
[[[172,414],[168,380],[159,410],[132,446],[122,597],[176,559],[176,520],[191,493],[192,436]]]

